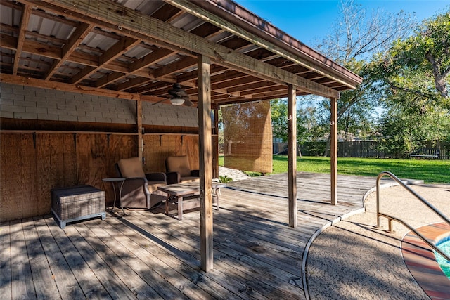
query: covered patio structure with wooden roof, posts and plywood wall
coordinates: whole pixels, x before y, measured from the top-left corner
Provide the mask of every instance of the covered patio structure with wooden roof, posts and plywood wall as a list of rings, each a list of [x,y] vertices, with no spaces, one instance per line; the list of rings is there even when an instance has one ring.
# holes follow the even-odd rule
[[[321,182],[330,184],[326,201],[338,204],[338,100],[362,79],[269,22],[224,0],[0,4],[1,221],[49,214],[52,188],[92,185],[111,204],[102,178],[116,176],[119,159],[139,157],[145,172],[164,172],[168,156],[188,155],[200,169],[195,251],[212,270],[212,112],[288,98],[288,214],[278,222],[295,228],[296,97],[308,94],[330,99],[330,175]],[[186,106],[171,104],[174,84]]]

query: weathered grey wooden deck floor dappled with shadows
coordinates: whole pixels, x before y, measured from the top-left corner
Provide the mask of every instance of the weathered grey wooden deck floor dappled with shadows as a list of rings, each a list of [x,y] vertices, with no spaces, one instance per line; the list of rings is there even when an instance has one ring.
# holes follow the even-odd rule
[[[287,226],[286,174],[221,191],[214,209],[214,270],[200,270],[200,213],[127,210],[68,224],[51,216],[0,228],[1,299],[304,299],[302,256],[311,235],[362,207],[375,178],[297,175],[297,228]],[[109,210],[108,210],[109,211]]]

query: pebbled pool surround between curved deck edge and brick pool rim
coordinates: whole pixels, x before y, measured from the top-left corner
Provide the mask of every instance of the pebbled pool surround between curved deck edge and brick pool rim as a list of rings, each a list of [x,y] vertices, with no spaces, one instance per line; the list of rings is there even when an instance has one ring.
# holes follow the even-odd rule
[[[410,185],[450,216],[450,185]],[[398,216],[414,228],[442,222],[399,186],[381,191],[381,211]],[[429,299],[413,279],[401,256],[401,239],[409,232],[394,222],[394,233],[376,225],[375,193],[366,212],[350,216],[325,230],[312,243],[307,259],[311,299]]]

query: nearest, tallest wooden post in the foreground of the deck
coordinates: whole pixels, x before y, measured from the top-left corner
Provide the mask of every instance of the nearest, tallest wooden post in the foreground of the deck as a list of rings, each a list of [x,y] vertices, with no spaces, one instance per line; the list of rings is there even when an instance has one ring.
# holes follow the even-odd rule
[[[210,58],[198,56],[198,140],[200,152],[200,260],[205,272],[213,268],[212,139]]]

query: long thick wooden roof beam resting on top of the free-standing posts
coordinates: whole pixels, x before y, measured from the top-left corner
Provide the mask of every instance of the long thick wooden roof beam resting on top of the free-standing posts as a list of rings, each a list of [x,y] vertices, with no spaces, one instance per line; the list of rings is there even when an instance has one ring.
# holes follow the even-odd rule
[[[70,18],[79,18],[84,22],[89,20],[89,22],[101,24],[101,27],[108,27],[111,30],[117,30],[117,24],[120,24],[123,32],[148,40],[150,43],[155,42],[162,46],[172,44],[180,48],[181,52],[199,53],[210,57],[212,62],[224,67],[241,70],[255,77],[275,81],[280,84],[293,84],[298,89],[308,93],[328,98],[338,96],[339,93],[327,86],[298,77],[295,74],[213,43],[190,32],[184,32],[184,30],[155,18],[141,15],[114,2],[95,1],[93,3],[89,0],[23,1],[29,2],[34,6],[45,6],[46,9],[58,11],[58,13],[68,15]]]

